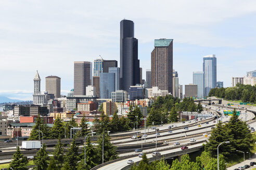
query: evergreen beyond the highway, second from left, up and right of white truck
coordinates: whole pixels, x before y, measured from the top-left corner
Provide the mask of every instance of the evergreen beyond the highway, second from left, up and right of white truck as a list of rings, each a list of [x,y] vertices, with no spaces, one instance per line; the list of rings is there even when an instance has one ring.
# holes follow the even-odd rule
[[[57,139],[60,135],[61,138],[64,138],[64,126],[61,122],[61,119],[57,117],[54,121],[54,125],[50,130],[50,136],[52,139]]]

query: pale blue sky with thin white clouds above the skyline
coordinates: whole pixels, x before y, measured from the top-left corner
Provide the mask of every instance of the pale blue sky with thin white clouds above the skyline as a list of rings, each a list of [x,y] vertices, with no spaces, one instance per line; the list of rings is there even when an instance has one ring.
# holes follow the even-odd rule
[[[32,100],[36,70],[61,77],[61,94],[73,89],[73,62],[120,61],[120,21],[134,21],[138,59],[150,69],[154,39],[173,39],[179,83],[193,83],[203,56],[215,54],[217,81],[256,66],[256,1],[0,0],[0,95]]]

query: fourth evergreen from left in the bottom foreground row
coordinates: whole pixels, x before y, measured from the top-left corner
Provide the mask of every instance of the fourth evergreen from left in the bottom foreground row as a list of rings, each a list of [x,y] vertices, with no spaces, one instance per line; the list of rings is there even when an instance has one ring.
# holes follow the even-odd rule
[[[73,138],[70,148],[66,154],[66,162],[68,163],[70,169],[76,169],[76,166],[78,166],[78,161],[78,147],[75,145],[75,138]],[[67,168],[67,165],[65,165],[65,168]]]

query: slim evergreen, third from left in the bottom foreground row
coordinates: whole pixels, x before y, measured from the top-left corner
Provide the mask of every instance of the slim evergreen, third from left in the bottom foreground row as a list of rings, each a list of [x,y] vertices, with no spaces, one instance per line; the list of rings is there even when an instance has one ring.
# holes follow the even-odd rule
[[[55,146],[53,159],[55,160],[57,168],[60,169],[64,163],[63,144],[61,143],[60,135],[59,135],[58,144]]]

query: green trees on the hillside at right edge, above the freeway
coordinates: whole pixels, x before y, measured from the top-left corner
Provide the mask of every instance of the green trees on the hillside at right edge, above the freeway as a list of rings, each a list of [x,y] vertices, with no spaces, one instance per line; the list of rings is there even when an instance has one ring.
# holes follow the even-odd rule
[[[242,102],[255,103],[256,86],[237,84],[236,87],[214,88],[209,92],[209,96],[224,98],[225,100],[241,100]]]

